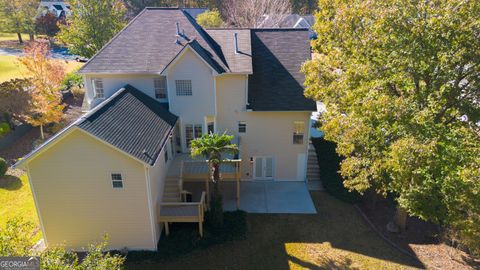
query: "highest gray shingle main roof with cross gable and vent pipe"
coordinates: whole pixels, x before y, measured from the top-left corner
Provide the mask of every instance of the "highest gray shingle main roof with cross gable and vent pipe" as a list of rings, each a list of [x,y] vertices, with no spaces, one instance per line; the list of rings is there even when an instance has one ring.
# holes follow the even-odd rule
[[[159,73],[188,43],[179,38],[176,23],[189,40],[195,39],[219,73],[227,64],[218,45],[186,11],[146,8],[105,45],[79,73]]]

